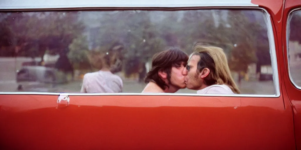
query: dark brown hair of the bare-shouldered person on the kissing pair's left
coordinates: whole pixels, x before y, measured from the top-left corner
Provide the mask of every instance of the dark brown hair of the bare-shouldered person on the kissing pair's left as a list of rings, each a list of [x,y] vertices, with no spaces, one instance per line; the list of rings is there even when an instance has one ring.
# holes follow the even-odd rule
[[[147,73],[144,81],[147,83],[152,80],[156,82],[160,88],[165,90],[166,87],[169,88],[169,85],[167,85],[163,79],[161,79],[158,72],[165,72],[167,74],[167,79],[170,82],[171,68],[177,63],[187,63],[187,61],[188,55],[179,48],[171,47],[162,52],[158,52],[154,54],[152,58],[151,70]]]

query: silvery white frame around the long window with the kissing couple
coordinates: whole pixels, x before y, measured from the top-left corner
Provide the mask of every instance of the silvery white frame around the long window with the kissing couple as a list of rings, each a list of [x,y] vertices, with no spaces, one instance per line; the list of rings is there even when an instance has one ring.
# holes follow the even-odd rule
[[[210,5],[209,5],[210,6]],[[207,5],[200,5],[198,7],[185,7],[185,8],[177,8],[177,7],[170,7],[170,8],[143,8],[143,10],[192,10],[192,9],[208,9],[208,4]],[[225,6],[225,5],[224,5]],[[274,83],[274,89],[275,89],[275,94],[273,95],[255,95],[255,94],[231,94],[231,95],[224,95],[224,94],[188,94],[188,93],[64,93],[66,95],[74,95],[74,96],[88,96],[88,95],[94,95],[94,96],[101,96],[101,95],[169,95],[169,96],[211,96],[211,97],[260,97],[260,98],[278,98],[280,97],[280,84],[279,84],[279,75],[278,75],[278,64],[277,64],[277,56],[276,56],[276,48],[275,48],[275,39],[274,39],[274,33],[273,33],[273,27],[272,27],[272,21],[271,21],[271,16],[268,13],[267,10],[264,8],[260,8],[257,6],[255,7],[244,7],[240,6],[237,7],[237,4],[233,5],[226,5],[226,7],[210,7],[210,9],[257,9],[257,10],[263,10],[264,11],[264,17],[265,17],[265,22],[267,25],[267,31],[268,31],[268,40],[269,40],[269,47],[270,47],[270,56],[271,56],[271,61],[272,61],[272,69],[273,69],[273,83]],[[91,6],[85,6],[89,10]],[[180,6],[178,6],[180,7]],[[35,11],[35,10],[41,10],[39,8],[28,8],[29,10]],[[95,9],[95,8],[94,8]],[[108,8],[105,8],[106,10]],[[111,8],[110,10],[137,10],[141,8],[137,7],[127,7],[127,8]],[[0,8],[1,10],[1,8]],[[16,9],[17,11],[23,10],[22,8],[20,10]],[[6,11],[16,11],[14,9],[6,10]],[[57,10],[56,9],[51,9],[51,7],[48,8],[43,8],[42,10]],[[70,7],[61,7],[59,10],[85,10],[84,7],[75,8],[71,9]],[[103,10],[100,8],[99,10]],[[0,92],[0,95],[60,95],[62,93],[51,93],[51,92]]]

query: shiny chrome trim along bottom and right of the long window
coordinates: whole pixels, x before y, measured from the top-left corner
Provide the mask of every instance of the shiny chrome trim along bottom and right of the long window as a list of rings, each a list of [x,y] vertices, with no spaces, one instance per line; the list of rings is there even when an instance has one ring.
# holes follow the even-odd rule
[[[169,95],[169,96],[212,96],[212,97],[263,97],[263,98],[278,98],[280,97],[280,84],[279,84],[279,75],[278,75],[278,64],[277,64],[277,55],[276,55],[276,47],[275,47],[275,39],[272,27],[271,16],[267,10],[260,7],[214,7],[212,9],[233,9],[233,8],[243,8],[243,9],[258,9],[263,10],[266,14],[264,15],[267,31],[268,31],[268,39],[270,46],[270,56],[271,63],[273,69],[273,83],[275,94],[274,95],[255,95],[255,94],[234,94],[234,95],[215,95],[215,94],[191,94],[191,93],[66,93],[69,96],[102,96],[102,95]],[[131,8],[131,10],[136,9],[135,7]],[[172,8],[171,8],[172,9]],[[188,10],[191,9],[189,7],[181,8],[179,10]],[[193,9],[206,9],[202,7],[195,7]],[[114,10],[114,8],[112,8]],[[148,9],[145,9],[148,10]],[[166,10],[166,9],[164,9]],[[168,9],[167,9],[168,10]],[[60,93],[48,93],[48,92],[0,92],[0,95],[60,95]]]

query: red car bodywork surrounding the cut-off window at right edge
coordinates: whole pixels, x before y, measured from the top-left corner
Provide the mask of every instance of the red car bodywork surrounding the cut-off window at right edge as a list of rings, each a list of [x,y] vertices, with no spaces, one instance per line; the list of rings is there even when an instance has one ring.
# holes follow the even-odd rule
[[[296,137],[296,147],[301,149],[301,118],[300,118],[300,76],[299,65],[300,58],[300,10],[301,2],[287,0],[285,2],[284,22],[283,26],[283,45],[284,45],[284,58],[285,58],[285,87],[288,98],[293,107],[294,128]]]

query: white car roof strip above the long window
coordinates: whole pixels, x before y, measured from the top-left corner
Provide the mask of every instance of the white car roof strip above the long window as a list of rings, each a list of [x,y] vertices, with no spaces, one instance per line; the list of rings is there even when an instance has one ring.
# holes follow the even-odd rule
[[[258,6],[251,0],[0,0],[0,9]]]

